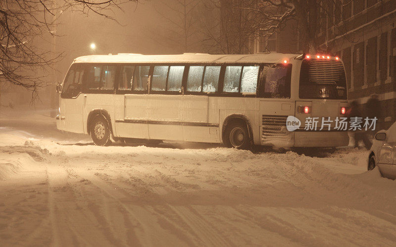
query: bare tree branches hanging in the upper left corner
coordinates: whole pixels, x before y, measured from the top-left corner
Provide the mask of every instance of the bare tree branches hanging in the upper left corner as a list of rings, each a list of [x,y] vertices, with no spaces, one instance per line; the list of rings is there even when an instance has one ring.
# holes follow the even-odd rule
[[[56,36],[57,14],[71,10],[114,19],[112,9],[125,2],[138,0],[1,0],[0,80],[37,96],[36,89],[44,85],[48,70],[61,57],[43,45],[44,36]]]

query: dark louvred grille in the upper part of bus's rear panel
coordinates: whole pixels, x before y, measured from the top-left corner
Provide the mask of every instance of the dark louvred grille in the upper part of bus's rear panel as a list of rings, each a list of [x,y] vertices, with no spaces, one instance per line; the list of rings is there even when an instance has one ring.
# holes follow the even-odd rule
[[[312,83],[335,83],[343,77],[344,67],[341,61],[309,61],[309,81]]]

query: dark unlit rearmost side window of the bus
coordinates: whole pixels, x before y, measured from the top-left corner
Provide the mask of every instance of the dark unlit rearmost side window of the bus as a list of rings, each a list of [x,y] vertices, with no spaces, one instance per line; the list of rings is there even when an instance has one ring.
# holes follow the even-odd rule
[[[287,67],[282,65],[264,66],[261,77],[264,80],[265,98],[290,98],[290,77]]]

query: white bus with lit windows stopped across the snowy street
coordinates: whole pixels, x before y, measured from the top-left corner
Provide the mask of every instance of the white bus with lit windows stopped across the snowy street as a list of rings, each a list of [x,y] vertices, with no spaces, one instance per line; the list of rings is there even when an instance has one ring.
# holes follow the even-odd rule
[[[73,61],[57,91],[57,128],[99,146],[111,137],[234,148],[348,144],[346,131],[304,129],[308,116],[345,114],[344,65],[333,56],[89,55]],[[287,130],[288,116],[301,121],[296,131]]]

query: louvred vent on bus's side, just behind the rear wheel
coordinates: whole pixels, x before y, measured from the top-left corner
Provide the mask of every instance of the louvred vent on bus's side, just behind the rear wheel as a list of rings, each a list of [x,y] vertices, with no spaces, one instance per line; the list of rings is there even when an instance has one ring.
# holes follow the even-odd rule
[[[288,116],[263,115],[262,116],[262,139],[265,141],[279,140],[287,137],[285,132],[286,119]]]

